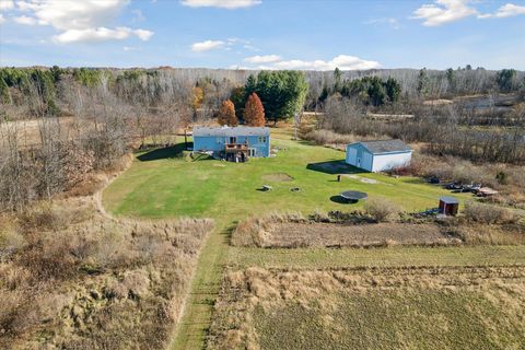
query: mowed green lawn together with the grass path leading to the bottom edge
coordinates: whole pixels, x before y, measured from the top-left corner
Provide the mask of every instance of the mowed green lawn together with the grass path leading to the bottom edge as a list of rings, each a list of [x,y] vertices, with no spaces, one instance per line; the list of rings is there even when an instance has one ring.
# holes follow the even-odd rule
[[[348,177],[337,183],[337,172],[357,171],[341,164],[343,152],[292,141],[287,130],[273,130],[272,144],[280,149],[277,158],[252,159],[245,164],[214,160],[187,162],[176,158],[175,152],[168,151],[142,154],[139,158],[149,161],[137,159],[131,167],[104,191],[104,206],[116,215],[151,219],[205,217],[215,220],[217,229],[201,252],[189,300],[172,343],[173,349],[202,348],[226,264],[249,266],[253,262],[259,264],[259,259],[269,259],[267,265],[273,265],[270,262],[270,250],[254,255],[255,259],[249,261],[248,257],[255,252],[229,246],[229,232],[238,220],[271,211],[301,211],[308,214],[315,210],[350,211],[360,208],[362,203],[342,205],[330,200],[330,197],[346,189],[366,191],[369,198],[387,197],[407,211],[435,207],[438,198],[447,194],[442,188],[424,184],[418,178],[393,178],[381,174],[357,174],[375,179],[376,184],[365,184],[360,178]],[[320,168],[315,165],[326,162],[332,163]],[[285,173],[293,179],[269,182],[262,178],[264,175],[276,173]],[[258,191],[257,188],[264,184],[273,186],[273,190]],[[299,187],[301,191],[293,192],[290,190],[292,187]],[[459,197],[465,199],[467,195]],[[287,256],[283,250],[279,252],[278,259],[290,261],[298,258],[295,255],[299,254],[306,260],[324,261],[319,262],[320,266],[328,266],[330,252],[299,249],[289,250],[291,255]],[[339,252],[336,265],[345,261],[354,265],[351,264],[351,250],[348,250],[348,255],[347,250]],[[423,252],[420,254],[424,257]],[[238,259],[235,259],[235,256],[238,256]],[[373,255],[368,261],[372,260]],[[410,254],[405,261],[410,264]]]

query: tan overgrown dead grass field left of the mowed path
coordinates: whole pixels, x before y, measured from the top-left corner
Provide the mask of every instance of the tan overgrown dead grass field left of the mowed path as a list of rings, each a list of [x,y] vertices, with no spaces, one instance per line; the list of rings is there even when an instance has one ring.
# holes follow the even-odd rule
[[[40,205],[0,230],[0,348],[161,349],[210,220],[113,221],[93,199]],[[7,253],[8,252],[8,253]]]

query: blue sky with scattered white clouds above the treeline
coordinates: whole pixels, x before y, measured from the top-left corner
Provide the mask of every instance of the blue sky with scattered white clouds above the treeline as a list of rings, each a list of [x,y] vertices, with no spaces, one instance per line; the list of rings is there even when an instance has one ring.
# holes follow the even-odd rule
[[[0,66],[525,70],[525,0],[0,0]]]

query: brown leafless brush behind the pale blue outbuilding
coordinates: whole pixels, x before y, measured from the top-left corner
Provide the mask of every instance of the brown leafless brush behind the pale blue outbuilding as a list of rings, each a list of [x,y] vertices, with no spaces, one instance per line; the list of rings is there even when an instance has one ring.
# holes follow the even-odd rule
[[[525,164],[525,104],[510,110],[511,126],[499,120],[477,128],[471,109],[458,105],[419,107],[410,118],[392,116],[377,120],[365,107],[347,97],[330,96],[318,128],[338,133],[372,138],[399,138],[423,142],[425,150],[438,155],[455,155],[475,162]]]

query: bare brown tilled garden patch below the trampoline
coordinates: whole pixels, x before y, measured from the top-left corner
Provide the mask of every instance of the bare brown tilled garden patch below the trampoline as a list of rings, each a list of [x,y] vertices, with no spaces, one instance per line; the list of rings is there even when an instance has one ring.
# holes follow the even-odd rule
[[[458,243],[434,224],[410,223],[292,223],[272,225],[266,235],[268,247],[302,246],[384,246],[384,245],[446,245]]]

